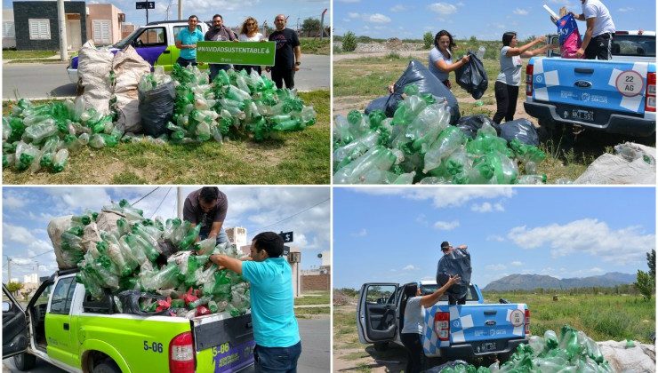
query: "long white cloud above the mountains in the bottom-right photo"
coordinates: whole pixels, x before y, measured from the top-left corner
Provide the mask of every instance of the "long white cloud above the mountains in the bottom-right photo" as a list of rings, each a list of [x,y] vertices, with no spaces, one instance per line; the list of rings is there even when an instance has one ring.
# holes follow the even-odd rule
[[[564,225],[516,226],[507,237],[522,249],[548,246],[553,258],[586,252],[622,265],[644,261],[646,252],[655,248],[655,234],[646,234],[638,226],[615,230],[606,222],[592,218]]]

